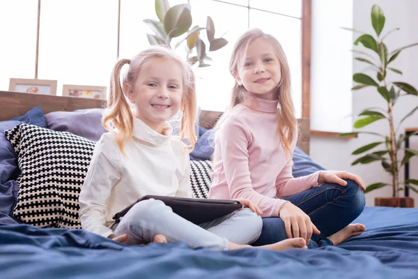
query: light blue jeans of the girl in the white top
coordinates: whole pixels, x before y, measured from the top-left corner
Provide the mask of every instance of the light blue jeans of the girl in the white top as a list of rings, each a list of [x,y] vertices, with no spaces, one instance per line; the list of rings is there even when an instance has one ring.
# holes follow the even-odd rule
[[[164,202],[147,199],[132,206],[116,227],[115,235],[127,234],[126,244],[150,243],[156,234],[162,234],[168,242],[182,241],[189,248],[228,250],[229,241],[253,243],[260,236],[262,228],[261,217],[248,208],[194,225],[173,213]]]

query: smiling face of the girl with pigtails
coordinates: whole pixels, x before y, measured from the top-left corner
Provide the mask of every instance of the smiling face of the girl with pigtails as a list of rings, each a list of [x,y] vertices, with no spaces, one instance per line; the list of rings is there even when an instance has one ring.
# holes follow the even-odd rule
[[[162,133],[166,121],[180,110],[183,68],[173,59],[151,57],[134,84],[125,84],[125,92],[135,105],[134,116]]]

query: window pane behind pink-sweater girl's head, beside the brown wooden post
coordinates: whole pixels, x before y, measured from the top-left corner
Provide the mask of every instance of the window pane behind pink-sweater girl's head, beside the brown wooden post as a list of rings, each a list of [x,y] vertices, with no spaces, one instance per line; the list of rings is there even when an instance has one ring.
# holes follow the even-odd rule
[[[302,50],[300,20],[250,10],[250,27],[257,27],[279,40],[291,68],[293,102],[297,118],[302,116]],[[281,28],[283,27],[283,28]]]

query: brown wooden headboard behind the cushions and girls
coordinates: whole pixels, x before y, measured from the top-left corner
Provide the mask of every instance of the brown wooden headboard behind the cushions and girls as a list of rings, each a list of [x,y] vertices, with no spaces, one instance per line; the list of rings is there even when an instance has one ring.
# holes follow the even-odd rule
[[[73,98],[65,96],[50,96],[31,93],[19,93],[0,91],[0,121],[13,119],[31,110],[33,107],[40,107],[44,114],[49,112],[72,112],[97,107],[104,107],[104,100],[88,98]],[[212,128],[222,112],[202,110],[199,123],[203,128]],[[309,119],[298,119],[300,135],[297,146],[309,154]]]

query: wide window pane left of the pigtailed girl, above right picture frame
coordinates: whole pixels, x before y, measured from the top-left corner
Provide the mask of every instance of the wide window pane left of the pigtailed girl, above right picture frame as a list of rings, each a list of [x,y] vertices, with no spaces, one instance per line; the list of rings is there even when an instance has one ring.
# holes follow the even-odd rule
[[[107,86],[116,61],[118,1],[42,0],[38,77]]]

